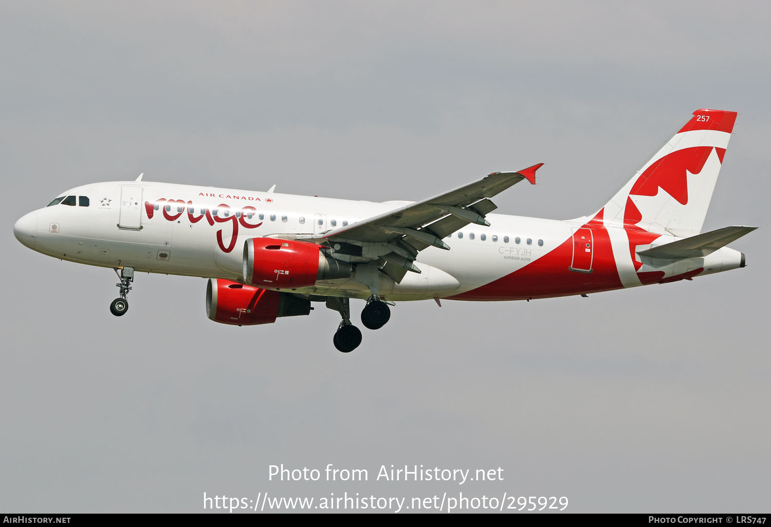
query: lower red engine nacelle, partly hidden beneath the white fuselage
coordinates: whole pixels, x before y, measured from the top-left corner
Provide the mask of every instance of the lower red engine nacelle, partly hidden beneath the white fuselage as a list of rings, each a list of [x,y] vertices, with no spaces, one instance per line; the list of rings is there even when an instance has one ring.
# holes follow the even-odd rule
[[[294,294],[209,279],[206,286],[206,314],[211,320],[235,326],[273,324],[278,317],[311,312],[311,301]]]

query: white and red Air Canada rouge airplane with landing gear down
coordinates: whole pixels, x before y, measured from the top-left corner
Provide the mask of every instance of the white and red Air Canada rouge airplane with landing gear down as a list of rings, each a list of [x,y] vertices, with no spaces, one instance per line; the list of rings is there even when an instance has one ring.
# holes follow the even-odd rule
[[[26,247],[60,260],[112,267],[123,316],[134,275],[208,278],[206,313],[221,324],[272,324],[337,310],[344,353],[362,324],[383,327],[406,300],[534,300],[692,280],[745,267],[726,247],[756,227],[701,233],[736,112],[699,109],[608,203],[588,216],[548,220],[493,214],[490,198],[539,163],[493,172],[426,200],[338,200],[143,181],[63,192],[13,227]]]

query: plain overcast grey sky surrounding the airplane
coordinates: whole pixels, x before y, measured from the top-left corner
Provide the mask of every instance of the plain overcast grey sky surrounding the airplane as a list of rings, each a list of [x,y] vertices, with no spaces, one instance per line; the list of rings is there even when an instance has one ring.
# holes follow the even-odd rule
[[[198,512],[207,495],[567,496],[570,512],[769,507],[771,8],[756,2],[5,2],[0,510]],[[12,224],[133,179],[417,200],[545,162],[499,212],[596,210],[702,107],[739,112],[705,230],[748,267],[530,303],[206,319],[205,281],[34,253]],[[354,303],[355,317],[362,303]],[[505,469],[268,482],[268,465]]]

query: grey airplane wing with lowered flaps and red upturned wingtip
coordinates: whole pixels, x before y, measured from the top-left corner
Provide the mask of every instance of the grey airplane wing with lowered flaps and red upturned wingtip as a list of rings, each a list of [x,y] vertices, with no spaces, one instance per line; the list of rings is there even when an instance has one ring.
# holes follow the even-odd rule
[[[329,247],[338,260],[377,261],[380,270],[399,283],[406,272],[419,273],[414,261],[426,247],[449,250],[443,238],[469,223],[490,225],[484,219],[497,209],[490,197],[522,180],[535,184],[535,172],[544,163],[519,172],[493,172],[455,190],[411,203],[379,216],[320,234],[298,235]]]

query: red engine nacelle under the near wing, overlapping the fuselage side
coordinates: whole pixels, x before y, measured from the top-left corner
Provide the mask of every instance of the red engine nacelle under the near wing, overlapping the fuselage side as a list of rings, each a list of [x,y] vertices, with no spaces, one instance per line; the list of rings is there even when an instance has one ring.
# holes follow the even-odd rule
[[[253,286],[296,289],[352,274],[350,263],[326,256],[315,243],[277,238],[244,243],[244,282]]]

